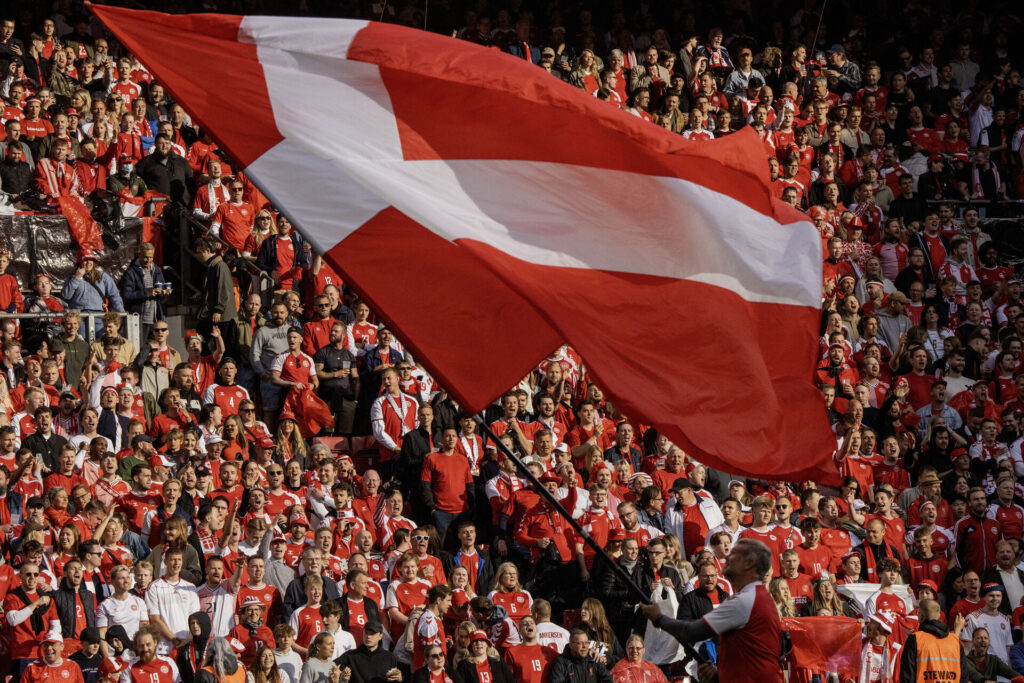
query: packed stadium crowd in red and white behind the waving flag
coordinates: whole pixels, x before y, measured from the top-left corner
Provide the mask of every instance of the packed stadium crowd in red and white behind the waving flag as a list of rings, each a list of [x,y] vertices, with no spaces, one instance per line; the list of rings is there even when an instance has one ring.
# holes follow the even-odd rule
[[[0,24],[3,198],[167,196],[208,230],[204,278],[171,339],[157,246],[120,282],[83,249],[66,282],[27,283],[0,236],[0,310],[59,314],[0,314],[0,667],[33,683],[686,675],[624,574],[72,4]],[[858,683],[953,680],[929,669],[949,643],[957,680],[1019,679],[1024,302],[980,228],[1024,193],[1019,19],[914,6],[900,42],[850,3],[816,29],[809,4],[758,22],[725,3],[721,28],[685,3],[664,23],[566,9],[566,28],[563,4],[481,3],[454,33],[689,139],[757,132],[773,191],[821,232],[813,381],[843,480],[711,470],[616,412],[564,346],[485,412],[490,430],[664,613],[703,618],[713,663],[737,626],[713,614],[756,541],[773,618],[862,621]],[[103,311],[90,344],[81,313]],[[777,626],[761,645],[781,656]],[[764,666],[729,654],[722,683]]]

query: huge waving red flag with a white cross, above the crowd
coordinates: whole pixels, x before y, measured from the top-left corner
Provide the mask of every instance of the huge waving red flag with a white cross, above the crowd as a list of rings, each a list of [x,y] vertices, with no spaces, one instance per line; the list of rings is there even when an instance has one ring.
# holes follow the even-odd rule
[[[91,8],[464,407],[567,341],[697,460],[835,475],[820,239],[753,133],[688,142],[413,29]]]

